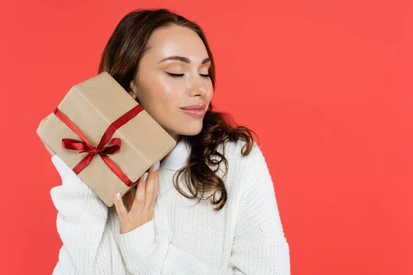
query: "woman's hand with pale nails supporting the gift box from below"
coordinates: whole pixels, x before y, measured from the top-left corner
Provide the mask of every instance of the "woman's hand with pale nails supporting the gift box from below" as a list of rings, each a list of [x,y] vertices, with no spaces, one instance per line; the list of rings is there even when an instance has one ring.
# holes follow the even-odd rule
[[[131,188],[125,194],[125,203],[129,212],[127,212],[122,198],[117,199],[114,195],[116,212],[120,221],[120,234],[127,233],[140,225],[147,223],[153,217],[153,206],[159,187],[159,166],[160,162],[153,164],[138,180],[136,195],[132,193]],[[153,168],[156,170],[154,171]]]

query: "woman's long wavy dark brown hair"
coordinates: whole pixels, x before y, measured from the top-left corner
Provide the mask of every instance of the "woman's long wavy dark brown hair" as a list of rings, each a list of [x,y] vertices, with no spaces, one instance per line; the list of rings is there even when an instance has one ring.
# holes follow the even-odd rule
[[[148,50],[147,41],[152,32],[157,28],[171,25],[187,27],[200,36],[211,60],[209,76],[215,89],[215,65],[204,32],[198,24],[167,9],[138,9],[126,14],[103,50],[98,73],[108,72],[126,91],[131,91],[129,84],[138,72],[140,58]],[[243,140],[245,145],[241,153],[244,156],[248,155],[253,148],[255,132],[245,126],[238,126],[229,113],[214,110],[215,107],[210,102],[204,115],[202,131],[198,135],[184,136],[191,144],[191,153],[185,166],[174,175],[173,184],[181,195],[189,199],[198,198],[200,201],[205,199],[207,192],[210,193],[206,199],[212,197],[212,204],[217,205],[214,209],[221,210],[226,203],[227,193],[223,179],[216,172],[224,162],[226,176],[228,161],[224,157],[224,151],[222,154],[219,152],[218,146],[226,141]],[[210,165],[217,168],[212,170]],[[181,175],[184,177],[189,195],[178,184],[178,177]],[[218,194],[220,196],[215,197]]]

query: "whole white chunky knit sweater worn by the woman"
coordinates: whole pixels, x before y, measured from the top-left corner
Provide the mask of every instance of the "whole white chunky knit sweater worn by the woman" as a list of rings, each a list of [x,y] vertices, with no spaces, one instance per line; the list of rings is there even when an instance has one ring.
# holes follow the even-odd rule
[[[224,163],[218,171],[228,198],[217,212],[209,201],[197,204],[173,186],[173,174],[190,152],[181,138],[161,162],[153,219],[125,234],[120,234],[115,206],[108,208],[54,155],[62,184],[50,195],[63,245],[53,274],[290,274],[271,175],[260,147],[254,142],[243,157],[244,144],[219,147],[220,153],[225,148],[229,170],[226,178]]]

